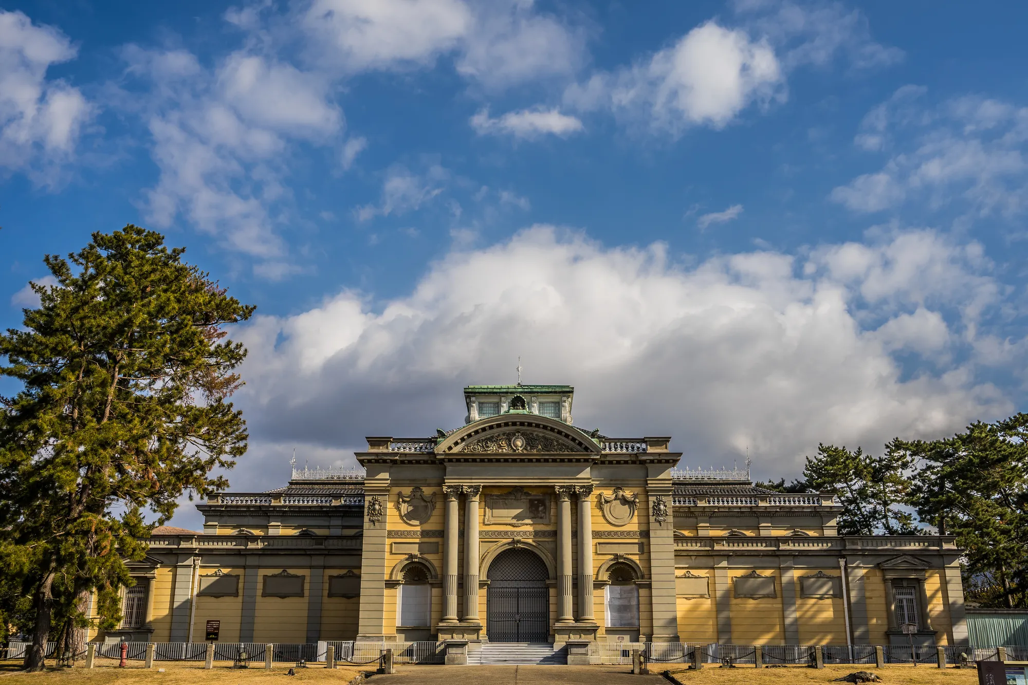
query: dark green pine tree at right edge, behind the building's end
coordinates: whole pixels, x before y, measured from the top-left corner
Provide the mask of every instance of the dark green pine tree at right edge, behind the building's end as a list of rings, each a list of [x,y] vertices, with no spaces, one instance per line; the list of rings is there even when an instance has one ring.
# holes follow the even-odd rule
[[[893,440],[916,460],[911,502],[957,537],[985,606],[1028,607],[1028,414],[978,422],[941,440]]]

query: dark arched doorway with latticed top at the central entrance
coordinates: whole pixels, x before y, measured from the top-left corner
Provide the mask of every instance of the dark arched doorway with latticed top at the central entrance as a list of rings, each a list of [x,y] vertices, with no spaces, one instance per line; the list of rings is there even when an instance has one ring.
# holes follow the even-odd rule
[[[508,549],[492,560],[485,596],[489,642],[549,642],[549,575],[543,560],[528,549]]]

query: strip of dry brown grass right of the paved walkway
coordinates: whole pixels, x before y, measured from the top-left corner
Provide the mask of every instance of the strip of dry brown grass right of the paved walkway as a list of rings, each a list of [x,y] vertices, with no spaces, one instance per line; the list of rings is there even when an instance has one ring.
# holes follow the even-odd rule
[[[656,665],[656,664],[653,664]],[[722,669],[708,665],[701,671],[672,671],[684,685],[804,685],[827,683],[854,671],[870,671],[882,679],[882,685],[977,685],[978,672],[974,669],[938,669],[934,665],[890,664],[884,669],[869,665],[825,665],[824,669],[790,666],[787,669],[754,669],[740,665]]]

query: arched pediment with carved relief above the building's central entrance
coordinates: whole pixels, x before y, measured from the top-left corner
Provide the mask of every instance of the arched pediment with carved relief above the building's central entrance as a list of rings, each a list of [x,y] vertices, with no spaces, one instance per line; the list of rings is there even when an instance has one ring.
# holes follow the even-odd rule
[[[557,419],[501,414],[469,424],[436,446],[437,455],[456,453],[598,455],[600,447]]]

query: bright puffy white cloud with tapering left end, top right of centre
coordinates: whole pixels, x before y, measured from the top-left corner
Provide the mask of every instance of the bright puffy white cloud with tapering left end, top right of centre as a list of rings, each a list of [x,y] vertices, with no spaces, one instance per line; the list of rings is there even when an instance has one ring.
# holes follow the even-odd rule
[[[780,95],[782,83],[768,43],[707,22],[633,67],[570,87],[564,98],[574,107],[611,109],[677,135],[693,125],[724,128],[751,103]]]

